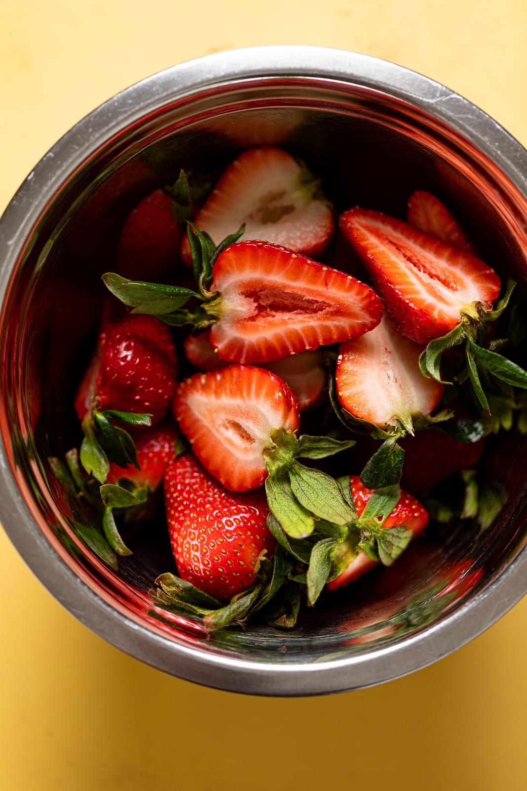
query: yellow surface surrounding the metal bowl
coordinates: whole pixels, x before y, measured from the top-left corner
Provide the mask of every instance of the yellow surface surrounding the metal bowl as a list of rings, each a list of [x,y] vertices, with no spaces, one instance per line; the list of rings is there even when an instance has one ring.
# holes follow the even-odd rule
[[[525,0],[0,0],[0,210],[97,104],[157,70],[258,44],[409,66],[527,144]],[[173,679],[88,632],[0,532],[0,787],[527,788],[527,600],[471,645],[375,689],[249,698]]]

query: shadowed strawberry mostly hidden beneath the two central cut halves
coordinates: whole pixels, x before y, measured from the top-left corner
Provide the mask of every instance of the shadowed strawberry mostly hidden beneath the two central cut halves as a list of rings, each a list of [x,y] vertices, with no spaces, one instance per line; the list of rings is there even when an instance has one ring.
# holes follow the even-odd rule
[[[189,335],[183,343],[187,359],[200,371],[215,371],[225,368],[222,360],[210,343],[210,331]],[[292,389],[299,411],[318,405],[327,384],[326,355],[322,350],[304,351],[284,360],[262,365],[262,368],[277,373]]]

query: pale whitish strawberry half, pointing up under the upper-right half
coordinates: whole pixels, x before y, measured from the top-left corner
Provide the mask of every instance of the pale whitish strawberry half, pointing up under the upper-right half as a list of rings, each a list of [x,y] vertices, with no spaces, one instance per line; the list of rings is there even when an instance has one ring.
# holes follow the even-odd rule
[[[444,389],[420,372],[422,351],[386,317],[365,335],[342,343],[335,375],[341,405],[354,418],[412,432],[412,415],[430,414]]]

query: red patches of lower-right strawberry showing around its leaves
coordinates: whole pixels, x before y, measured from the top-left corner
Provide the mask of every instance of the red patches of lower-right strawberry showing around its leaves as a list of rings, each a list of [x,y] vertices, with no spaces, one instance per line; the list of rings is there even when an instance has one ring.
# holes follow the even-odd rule
[[[352,490],[353,504],[355,505],[357,516],[360,517],[363,510],[366,508],[367,501],[373,494],[373,490],[363,486],[363,484],[360,483],[358,475],[352,475],[349,483]],[[407,530],[412,531],[413,539],[419,536],[428,524],[428,513],[426,509],[423,508],[416,498],[403,490],[401,490],[401,497],[397,505],[392,513],[390,513],[390,516],[387,517],[382,527],[396,528],[402,524],[405,525]],[[361,552],[355,560],[352,560],[347,569],[334,580],[328,582],[328,588],[329,590],[343,588],[344,585],[348,585],[350,582],[362,577],[363,574],[375,568],[375,566],[378,566],[378,562],[371,560],[367,557],[367,554]]]

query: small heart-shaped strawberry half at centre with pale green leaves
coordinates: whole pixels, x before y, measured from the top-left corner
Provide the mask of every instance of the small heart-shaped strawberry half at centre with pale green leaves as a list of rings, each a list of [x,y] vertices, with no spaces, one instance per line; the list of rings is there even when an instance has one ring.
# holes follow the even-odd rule
[[[297,438],[295,396],[276,374],[250,365],[198,373],[179,385],[173,408],[201,464],[226,489],[265,483],[269,509],[288,535],[309,535],[316,519],[351,520],[337,483],[296,458],[322,459],[354,441]]]

